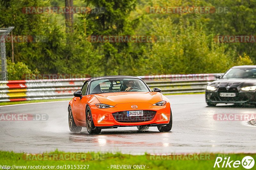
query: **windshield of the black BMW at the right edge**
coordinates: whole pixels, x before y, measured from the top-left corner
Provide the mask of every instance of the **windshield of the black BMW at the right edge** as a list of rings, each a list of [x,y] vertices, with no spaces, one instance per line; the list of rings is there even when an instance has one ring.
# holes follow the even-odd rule
[[[223,78],[256,78],[256,68],[231,68]]]

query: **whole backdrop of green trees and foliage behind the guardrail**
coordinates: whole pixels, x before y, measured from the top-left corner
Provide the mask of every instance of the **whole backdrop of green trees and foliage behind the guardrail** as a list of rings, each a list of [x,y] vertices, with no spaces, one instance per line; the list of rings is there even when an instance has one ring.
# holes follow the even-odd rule
[[[74,14],[65,32],[64,14],[24,14],[26,6],[64,6],[60,0],[0,1],[0,27],[13,35],[44,37],[14,43],[14,59],[41,74],[192,74],[220,73],[234,65],[254,64],[255,43],[216,43],[215,35],[253,35],[256,0],[76,0],[74,6],[104,7],[104,13]],[[148,6],[227,7],[227,13],[150,14]],[[90,43],[90,35],[168,36],[153,43]],[[69,39],[69,43],[66,40]],[[7,58],[12,54],[6,42]],[[245,54],[246,53],[246,54]],[[14,67],[12,63],[10,68]],[[16,67],[16,66],[15,66]],[[9,71],[9,70],[8,70]],[[9,79],[20,79],[15,74]]]

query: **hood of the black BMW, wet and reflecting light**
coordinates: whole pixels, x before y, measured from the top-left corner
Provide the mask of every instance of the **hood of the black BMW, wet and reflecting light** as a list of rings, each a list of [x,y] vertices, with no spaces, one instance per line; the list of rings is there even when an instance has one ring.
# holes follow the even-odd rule
[[[227,86],[230,86],[230,88],[242,88],[256,85],[256,79],[220,79],[212,81],[209,85],[214,86],[216,88]]]

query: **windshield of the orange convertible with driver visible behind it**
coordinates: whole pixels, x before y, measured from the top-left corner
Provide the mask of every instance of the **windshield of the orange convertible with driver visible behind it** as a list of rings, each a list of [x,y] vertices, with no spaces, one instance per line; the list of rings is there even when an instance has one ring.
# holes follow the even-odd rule
[[[126,90],[127,88],[129,88],[129,90]],[[90,94],[99,94],[125,91],[149,92],[149,89],[147,88],[145,83],[140,79],[111,78],[92,81],[89,92]]]

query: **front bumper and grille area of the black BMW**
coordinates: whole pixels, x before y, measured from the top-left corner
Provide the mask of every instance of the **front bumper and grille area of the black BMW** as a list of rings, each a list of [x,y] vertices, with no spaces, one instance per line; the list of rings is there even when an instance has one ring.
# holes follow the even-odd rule
[[[227,92],[236,93],[235,97],[221,97],[222,91],[206,90],[205,100],[206,103],[256,103],[256,93],[254,91],[237,91]]]

